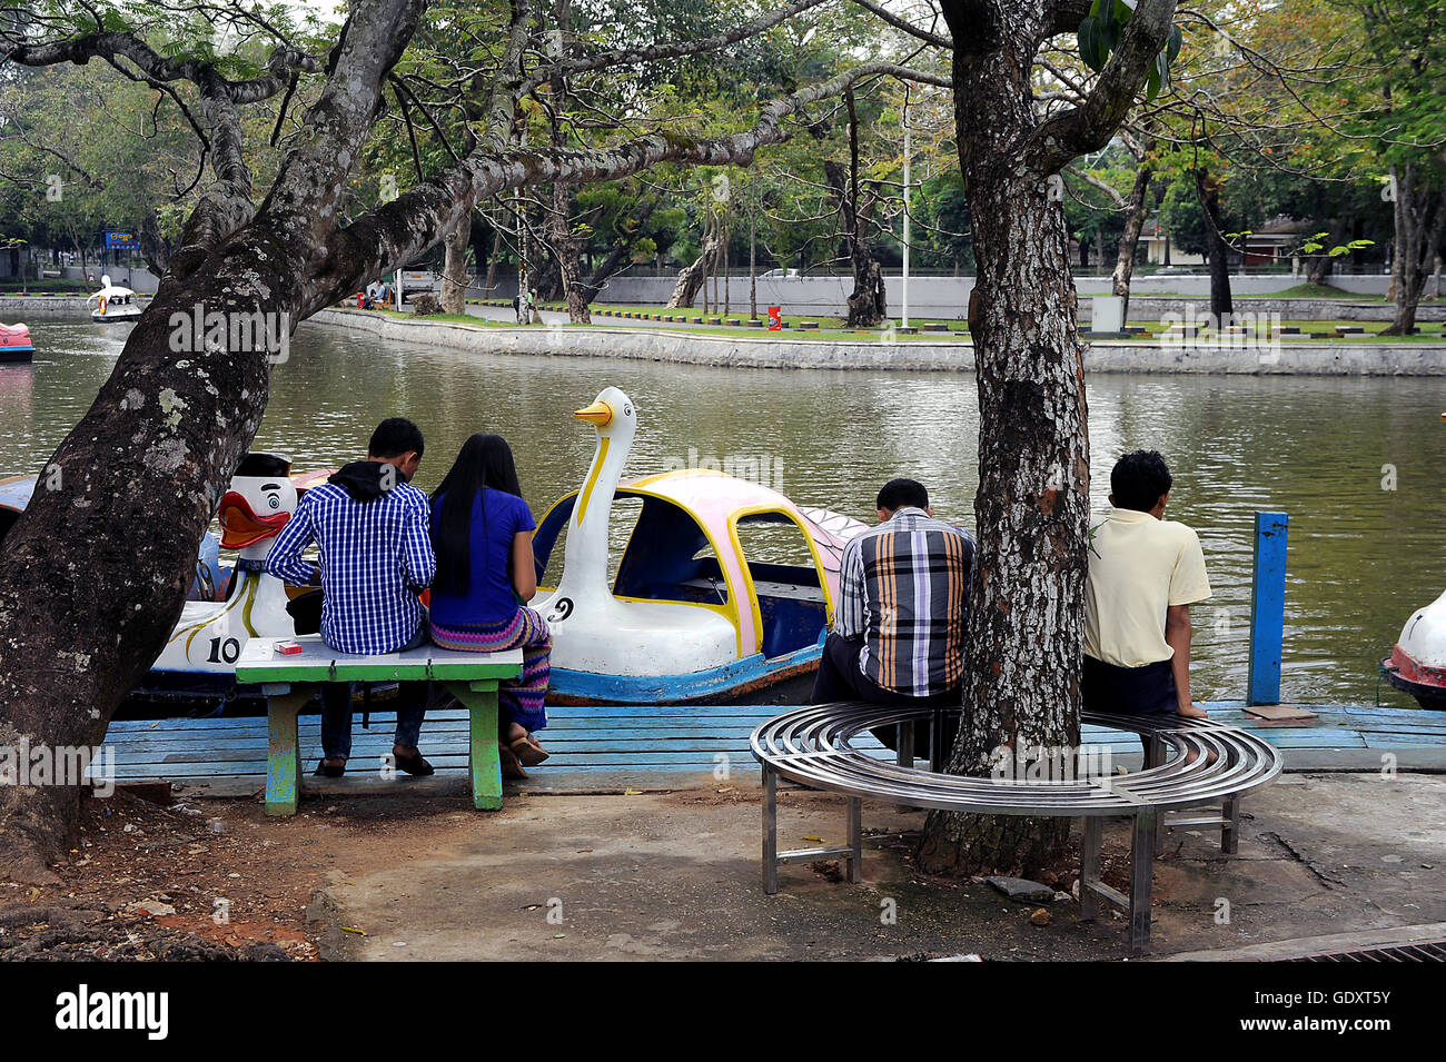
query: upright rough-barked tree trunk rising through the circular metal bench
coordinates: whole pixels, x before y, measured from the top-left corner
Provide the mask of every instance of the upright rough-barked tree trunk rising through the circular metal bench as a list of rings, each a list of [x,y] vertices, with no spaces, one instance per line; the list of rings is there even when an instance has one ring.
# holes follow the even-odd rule
[[[963,26],[951,20],[951,29],[960,40]],[[1089,439],[1069,233],[1048,175],[998,147],[1034,126],[1028,42],[1037,30],[1011,25],[993,51],[954,52],[979,293],[970,314],[979,546],[963,720],[949,757],[956,774],[988,774],[999,747],[1079,744]],[[918,860],[933,873],[1031,874],[1063,854],[1069,828],[1069,819],[936,812]]]

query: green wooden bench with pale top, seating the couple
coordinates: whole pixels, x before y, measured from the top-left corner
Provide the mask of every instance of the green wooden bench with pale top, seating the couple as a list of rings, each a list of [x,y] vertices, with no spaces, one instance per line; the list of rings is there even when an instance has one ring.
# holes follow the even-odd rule
[[[296,642],[285,656],[276,646]],[[295,815],[301,780],[296,717],[322,682],[441,682],[470,715],[471,799],[480,811],[502,808],[497,757],[497,683],[522,675],[522,650],[460,653],[422,646],[405,653],[353,656],[330,649],[320,634],[252,639],[236,663],[236,681],[257,683],[266,695],[266,813]]]

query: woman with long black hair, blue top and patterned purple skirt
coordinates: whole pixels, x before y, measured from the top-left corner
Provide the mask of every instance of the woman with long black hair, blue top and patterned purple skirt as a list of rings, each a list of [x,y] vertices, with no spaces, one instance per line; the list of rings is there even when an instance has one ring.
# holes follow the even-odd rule
[[[536,594],[532,535],[512,448],[500,435],[473,435],[432,491],[431,634],[444,649],[522,649],[522,676],[497,691],[505,777],[526,777],[548,757],[532,731],[547,727],[552,634],[526,603]]]

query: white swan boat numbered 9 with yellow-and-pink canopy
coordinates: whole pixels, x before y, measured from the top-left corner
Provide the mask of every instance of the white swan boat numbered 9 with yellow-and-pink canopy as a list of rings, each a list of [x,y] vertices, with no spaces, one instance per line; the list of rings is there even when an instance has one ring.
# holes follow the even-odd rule
[[[532,536],[532,607],[552,630],[548,698],[726,701],[816,670],[843,546],[863,524],[717,471],[620,483],[638,429],[632,400],[607,387],[574,416],[597,431],[593,462],[581,488],[557,501]],[[641,506],[609,585],[616,498]],[[561,577],[544,587],[564,527]],[[798,562],[784,562],[784,553]]]

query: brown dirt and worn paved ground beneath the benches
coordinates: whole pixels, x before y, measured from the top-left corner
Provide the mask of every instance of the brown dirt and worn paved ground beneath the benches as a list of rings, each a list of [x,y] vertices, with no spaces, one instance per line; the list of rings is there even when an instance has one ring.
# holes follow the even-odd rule
[[[1446,779],[1285,776],[1246,800],[1241,854],[1173,832],[1155,954],[1446,920]],[[779,847],[837,844],[839,798],[781,796]],[[759,790],[457,792],[260,800],[93,799],[61,884],[0,883],[0,959],[1121,959],[1122,922],[940,881],[910,858],[920,812],[865,805],[863,881],[833,863],[759,887]],[[1106,829],[1122,887],[1124,824]],[[1223,918],[1222,918],[1223,910]]]

